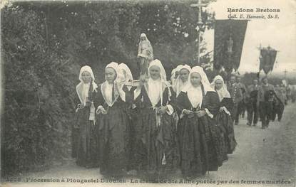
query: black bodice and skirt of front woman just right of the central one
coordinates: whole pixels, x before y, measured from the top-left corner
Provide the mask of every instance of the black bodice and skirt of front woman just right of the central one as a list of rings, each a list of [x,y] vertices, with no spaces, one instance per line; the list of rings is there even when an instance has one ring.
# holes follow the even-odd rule
[[[204,94],[200,109],[208,109],[214,115],[218,113],[219,97],[216,92]],[[180,92],[174,104],[180,115],[183,109],[195,111],[190,103],[187,92]],[[179,121],[180,134],[180,167],[183,176],[202,176],[206,171],[217,171],[222,165],[220,153],[220,136],[215,118],[207,114],[198,117],[196,114],[184,115]]]

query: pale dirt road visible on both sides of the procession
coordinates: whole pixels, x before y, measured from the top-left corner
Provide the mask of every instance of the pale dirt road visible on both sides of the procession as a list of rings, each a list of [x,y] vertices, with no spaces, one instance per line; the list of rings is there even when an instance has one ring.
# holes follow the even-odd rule
[[[216,172],[210,172],[197,178],[198,180],[215,181],[217,186],[220,180],[227,182],[227,186],[233,182],[251,186],[252,181],[277,181],[282,184],[267,186],[295,186],[295,159],[296,159],[296,105],[290,104],[285,109],[282,122],[271,122],[268,129],[249,127],[245,119],[240,119],[240,124],[235,126],[235,137],[238,146],[234,154]],[[69,161],[63,166],[53,166],[46,171],[26,173],[21,177],[22,181],[38,178],[103,178],[98,169],[84,169],[76,166],[74,161]],[[243,181],[242,181],[243,180]],[[126,180],[130,182],[130,180]],[[286,183],[284,183],[286,182]],[[256,182],[257,183],[257,182]],[[16,186],[44,186],[45,183],[14,183]],[[57,183],[47,183],[53,186]],[[88,186],[91,183],[68,183],[71,186]],[[98,184],[98,183],[97,183]],[[105,183],[106,184],[106,183]],[[191,184],[193,186],[193,184]],[[200,185],[200,184],[199,184]],[[257,186],[260,184],[257,184]],[[58,183],[58,186],[66,186],[66,183]],[[187,185],[186,185],[187,186]],[[222,185],[224,186],[224,185]]]

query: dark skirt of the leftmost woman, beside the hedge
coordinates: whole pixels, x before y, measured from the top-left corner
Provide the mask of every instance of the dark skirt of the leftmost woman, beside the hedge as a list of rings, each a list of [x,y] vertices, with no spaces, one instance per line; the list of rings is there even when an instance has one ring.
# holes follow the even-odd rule
[[[78,166],[85,167],[97,167],[98,166],[98,124],[94,124],[93,121],[89,121],[89,107],[79,109],[76,112],[77,125],[76,134],[77,139],[76,149],[76,164]],[[72,134],[75,135],[75,134]]]

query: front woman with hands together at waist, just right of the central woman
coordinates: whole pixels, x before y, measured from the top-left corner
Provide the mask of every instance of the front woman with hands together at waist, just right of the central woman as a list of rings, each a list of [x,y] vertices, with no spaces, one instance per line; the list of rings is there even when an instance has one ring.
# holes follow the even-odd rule
[[[174,107],[182,126],[181,171],[185,177],[195,177],[206,171],[217,171],[222,163],[214,118],[219,111],[219,97],[210,87],[203,68],[193,67],[189,79],[189,85],[180,92]]]

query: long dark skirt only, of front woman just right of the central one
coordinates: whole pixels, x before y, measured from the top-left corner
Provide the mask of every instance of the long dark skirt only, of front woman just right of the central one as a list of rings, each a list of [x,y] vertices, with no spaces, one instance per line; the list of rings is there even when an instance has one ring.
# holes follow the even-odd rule
[[[184,117],[179,124],[183,176],[202,176],[222,165],[221,138],[209,117]]]

